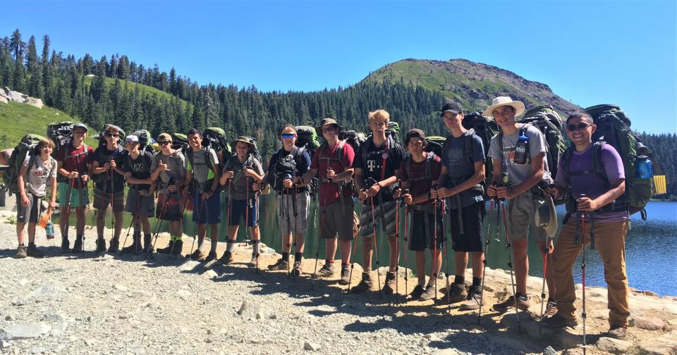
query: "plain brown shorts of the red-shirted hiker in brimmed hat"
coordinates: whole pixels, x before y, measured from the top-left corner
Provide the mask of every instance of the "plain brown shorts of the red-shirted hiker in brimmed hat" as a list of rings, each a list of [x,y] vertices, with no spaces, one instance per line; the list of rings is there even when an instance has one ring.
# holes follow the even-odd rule
[[[343,197],[327,206],[319,206],[319,237],[339,240],[353,240],[353,199]]]

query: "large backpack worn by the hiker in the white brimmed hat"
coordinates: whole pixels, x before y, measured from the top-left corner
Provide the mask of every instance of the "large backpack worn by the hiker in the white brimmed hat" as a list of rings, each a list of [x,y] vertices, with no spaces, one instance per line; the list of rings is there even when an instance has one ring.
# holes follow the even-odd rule
[[[552,106],[542,105],[527,111],[518,122],[532,125],[543,134],[546,149],[545,157],[550,176],[554,179],[557,175],[559,157],[566,149],[566,140],[562,134],[563,120]]]

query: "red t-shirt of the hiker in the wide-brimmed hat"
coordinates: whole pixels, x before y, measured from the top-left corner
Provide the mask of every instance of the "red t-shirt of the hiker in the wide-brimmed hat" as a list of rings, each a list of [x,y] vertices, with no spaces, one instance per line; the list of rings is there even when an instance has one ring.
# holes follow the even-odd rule
[[[337,157],[336,153],[339,145],[343,145],[343,148],[341,151],[341,156]],[[353,150],[353,147],[351,147],[350,144],[346,142],[339,141],[334,145],[334,147],[331,148],[327,148],[327,144],[322,144],[322,147],[319,147],[312,156],[310,168],[317,169],[319,172],[319,177],[322,178],[322,180],[326,180],[327,168],[331,167],[336,174],[343,173],[343,171],[346,171],[346,169],[349,169],[353,166],[354,158],[355,151]],[[342,184],[341,182],[322,182],[322,186],[319,190],[319,205],[325,206],[338,201],[338,188],[341,185],[343,185],[343,197],[346,198],[348,196],[352,196],[353,189],[350,187],[350,184]]]

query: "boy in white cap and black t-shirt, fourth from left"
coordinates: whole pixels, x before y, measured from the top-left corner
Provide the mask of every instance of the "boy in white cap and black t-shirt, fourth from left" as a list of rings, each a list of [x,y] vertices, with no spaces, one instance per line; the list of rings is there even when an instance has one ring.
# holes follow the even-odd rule
[[[123,253],[143,251],[148,254],[152,242],[148,217],[152,217],[155,212],[154,188],[150,180],[153,154],[145,149],[139,151],[140,146],[138,136],[125,137],[126,153],[122,155],[121,161],[122,171],[129,184],[125,211],[133,216],[134,235],[132,244],[122,248]],[[141,244],[141,232],[143,232],[143,244]]]

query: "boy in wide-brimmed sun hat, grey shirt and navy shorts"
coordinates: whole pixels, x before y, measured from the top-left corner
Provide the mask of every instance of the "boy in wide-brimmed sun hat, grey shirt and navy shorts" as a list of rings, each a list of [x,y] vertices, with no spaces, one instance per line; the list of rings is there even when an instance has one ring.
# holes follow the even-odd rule
[[[233,154],[224,163],[224,173],[221,175],[221,185],[228,186],[228,240],[226,252],[219,261],[228,265],[233,262],[240,220],[245,220],[245,228],[249,228],[252,241],[252,259],[248,266],[258,266],[261,235],[259,229],[259,206],[256,203],[256,194],[261,189],[261,180],[264,179],[263,167],[255,157],[255,146],[249,137],[240,136],[231,142],[235,147]]]

